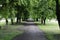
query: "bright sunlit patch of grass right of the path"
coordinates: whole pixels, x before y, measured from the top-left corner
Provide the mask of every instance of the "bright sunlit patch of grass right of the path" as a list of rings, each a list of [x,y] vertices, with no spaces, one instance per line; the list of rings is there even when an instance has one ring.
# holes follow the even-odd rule
[[[54,34],[60,34],[60,29],[58,24],[46,24],[46,25],[40,25],[40,29],[42,29],[46,33],[54,33]]]

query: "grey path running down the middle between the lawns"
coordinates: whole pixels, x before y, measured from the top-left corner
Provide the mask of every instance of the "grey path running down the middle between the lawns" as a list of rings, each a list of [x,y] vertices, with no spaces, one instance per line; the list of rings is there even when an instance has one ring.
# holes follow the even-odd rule
[[[24,33],[17,35],[12,40],[47,40],[45,33],[34,22],[24,23]]]

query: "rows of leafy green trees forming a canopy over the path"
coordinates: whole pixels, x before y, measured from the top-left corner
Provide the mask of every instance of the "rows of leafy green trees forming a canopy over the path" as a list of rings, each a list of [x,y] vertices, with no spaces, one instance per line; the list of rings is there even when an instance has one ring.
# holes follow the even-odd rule
[[[5,18],[8,24],[8,18],[11,24],[27,21],[28,18],[45,24],[46,19],[56,19],[56,1],[55,0],[0,0],[0,20]]]

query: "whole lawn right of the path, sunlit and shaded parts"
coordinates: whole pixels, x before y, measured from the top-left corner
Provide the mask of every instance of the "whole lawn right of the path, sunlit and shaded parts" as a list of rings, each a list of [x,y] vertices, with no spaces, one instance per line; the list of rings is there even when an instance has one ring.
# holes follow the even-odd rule
[[[56,37],[54,35],[60,34],[58,23],[46,22],[46,25],[39,25],[39,28],[46,33],[48,40],[55,40],[56,38],[58,38],[58,36]],[[60,40],[60,39],[56,39],[56,40]]]

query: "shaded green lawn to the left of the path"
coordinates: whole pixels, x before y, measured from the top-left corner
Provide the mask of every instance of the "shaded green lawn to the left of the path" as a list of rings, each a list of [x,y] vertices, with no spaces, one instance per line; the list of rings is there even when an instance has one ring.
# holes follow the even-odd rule
[[[21,25],[8,25],[7,29],[4,27],[0,30],[0,40],[12,40],[16,35],[22,34],[23,31],[17,30]]]

